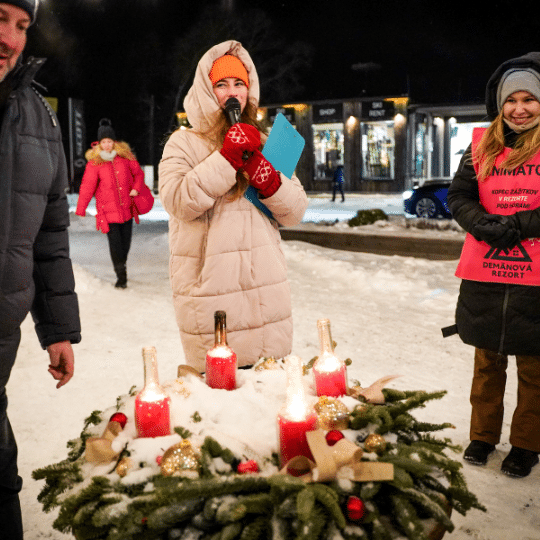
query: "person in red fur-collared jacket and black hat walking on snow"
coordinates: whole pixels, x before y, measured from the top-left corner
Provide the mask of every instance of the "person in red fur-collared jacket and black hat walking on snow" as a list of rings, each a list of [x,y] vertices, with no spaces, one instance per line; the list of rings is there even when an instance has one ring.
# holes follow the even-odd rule
[[[139,223],[134,197],[144,187],[144,172],[129,144],[117,141],[111,121],[99,122],[98,140],[86,152],[86,169],[79,189],[75,213],[86,215],[96,197],[96,228],[107,234],[116,273],[115,287],[127,287],[127,258],[131,247],[133,217]]]

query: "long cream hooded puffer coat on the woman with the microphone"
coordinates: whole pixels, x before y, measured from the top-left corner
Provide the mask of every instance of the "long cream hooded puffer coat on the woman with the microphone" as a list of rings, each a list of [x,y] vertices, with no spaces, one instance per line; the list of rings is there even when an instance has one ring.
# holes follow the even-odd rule
[[[206,352],[214,345],[217,310],[227,313],[228,343],[239,366],[291,352],[291,297],[278,225],[298,224],[307,207],[299,180],[281,173],[277,191],[263,201],[273,219],[243,196],[246,181],[220,152],[231,124],[209,76],[226,54],[241,60],[249,78],[241,125],[256,125],[255,66],[240,43],[220,43],[199,61],[184,100],[192,129],[171,135],[159,166],[159,195],[170,216],[176,319],[186,362],[199,371],[205,370]]]

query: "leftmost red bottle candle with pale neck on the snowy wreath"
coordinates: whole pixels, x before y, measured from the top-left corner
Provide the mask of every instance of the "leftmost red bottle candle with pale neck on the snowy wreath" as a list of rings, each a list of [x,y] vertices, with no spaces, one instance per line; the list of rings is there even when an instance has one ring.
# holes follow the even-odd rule
[[[171,433],[170,398],[159,385],[154,347],[143,348],[144,388],[135,398],[138,437],[163,437]]]

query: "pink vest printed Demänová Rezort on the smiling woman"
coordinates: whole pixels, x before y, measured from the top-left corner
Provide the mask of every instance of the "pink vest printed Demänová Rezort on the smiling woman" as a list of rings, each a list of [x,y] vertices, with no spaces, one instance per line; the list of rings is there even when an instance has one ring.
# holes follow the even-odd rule
[[[473,155],[484,131],[473,131]],[[507,171],[500,164],[510,151],[505,148],[495,160],[491,175],[478,182],[480,203],[490,214],[511,215],[540,206],[540,154],[514,171]],[[474,167],[478,174],[477,164]],[[472,281],[540,285],[540,238],[528,238],[506,250],[492,248],[467,234],[456,276]]]

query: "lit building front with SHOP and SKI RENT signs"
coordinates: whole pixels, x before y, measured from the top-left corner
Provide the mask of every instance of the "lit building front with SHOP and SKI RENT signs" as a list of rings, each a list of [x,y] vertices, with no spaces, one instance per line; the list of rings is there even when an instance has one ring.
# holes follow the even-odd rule
[[[484,105],[411,104],[405,96],[260,107],[268,132],[279,113],[305,140],[296,175],[310,192],[331,191],[338,165],[349,192],[400,193],[427,179],[450,179],[474,127],[489,125]],[[187,127],[185,113],[178,119]]]

